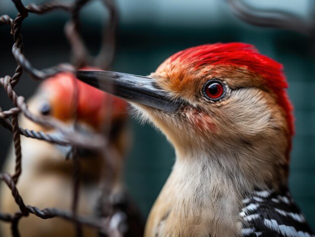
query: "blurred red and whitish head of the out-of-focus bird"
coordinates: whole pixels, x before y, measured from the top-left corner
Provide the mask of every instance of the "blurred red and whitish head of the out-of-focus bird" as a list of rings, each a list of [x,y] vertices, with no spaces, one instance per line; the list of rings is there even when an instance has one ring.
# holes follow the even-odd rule
[[[44,81],[29,104],[35,114],[55,118],[68,126],[77,123],[83,132],[103,133],[110,125],[110,135],[115,136],[119,125],[127,120],[126,102],[82,83],[70,72]],[[41,126],[39,130],[49,132],[51,128]]]

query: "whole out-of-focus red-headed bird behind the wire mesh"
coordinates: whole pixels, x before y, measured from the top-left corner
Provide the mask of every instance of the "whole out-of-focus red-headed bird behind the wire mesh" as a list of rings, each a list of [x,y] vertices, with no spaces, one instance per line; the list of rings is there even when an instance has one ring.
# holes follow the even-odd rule
[[[67,124],[69,128],[83,133],[103,133],[109,126],[109,147],[116,159],[113,177],[113,199],[115,211],[127,215],[127,232],[124,236],[142,236],[144,222],[135,208],[122,182],[124,156],[130,144],[127,104],[123,100],[101,92],[81,81],[74,74],[62,72],[40,85],[39,90],[29,100],[29,110],[42,117],[52,117]],[[20,117],[20,125],[35,131],[58,135],[58,131],[38,125],[25,117]],[[60,135],[60,134],[59,134]],[[70,146],[21,137],[22,175],[18,190],[24,203],[39,207],[70,209],[73,192],[73,162],[65,161]],[[77,149],[81,165],[80,202],[77,213],[95,215],[96,203],[101,194],[100,182],[105,169],[100,152]],[[11,148],[5,164],[5,171],[13,173],[14,149]],[[9,213],[18,211],[9,188],[2,185],[1,210]],[[11,236],[9,224],[3,225],[1,236]],[[74,225],[60,218],[40,219],[35,215],[22,218],[19,223],[22,237],[32,236],[74,236]],[[83,236],[98,236],[93,228],[84,227]]]

